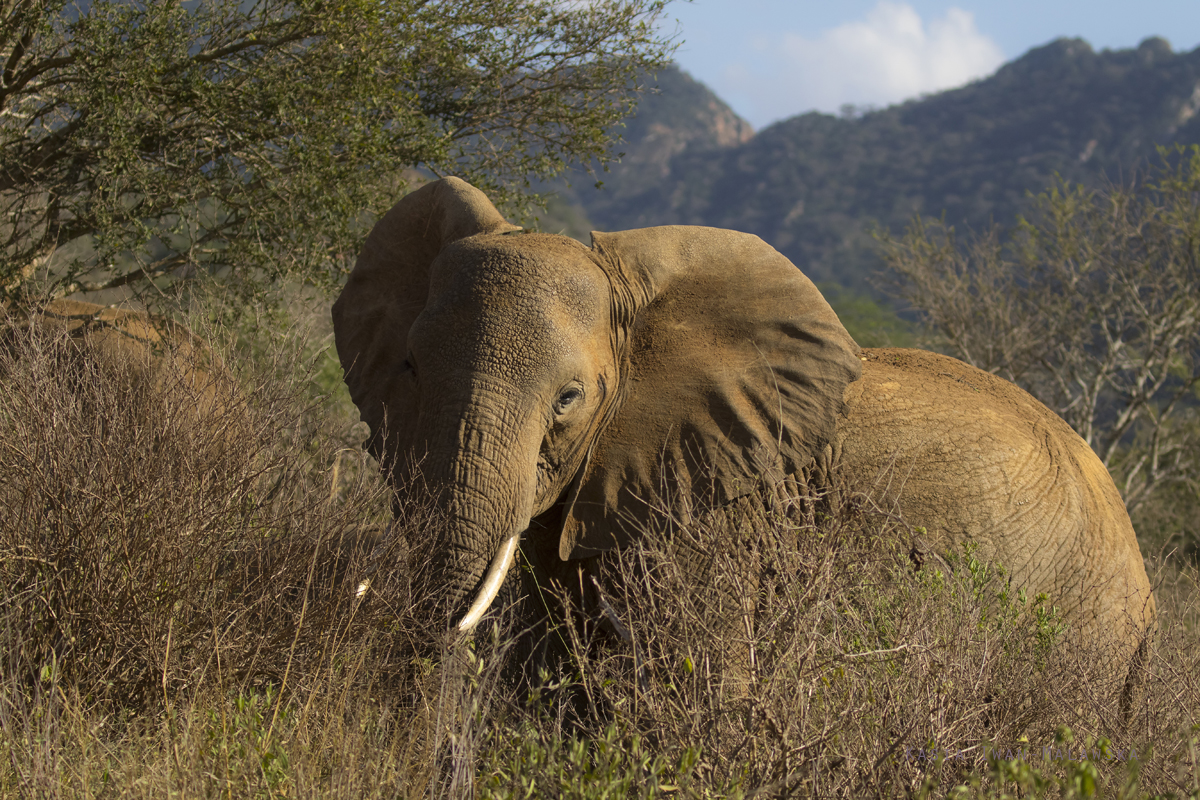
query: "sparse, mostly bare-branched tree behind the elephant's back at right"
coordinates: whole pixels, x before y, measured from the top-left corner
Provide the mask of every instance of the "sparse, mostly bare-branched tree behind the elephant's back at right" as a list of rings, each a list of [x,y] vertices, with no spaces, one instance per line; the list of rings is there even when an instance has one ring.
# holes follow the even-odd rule
[[[1200,492],[1200,148],[1163,156],[1129,187],[1055,186],[1009,236],[920,218],[882,236],[941,341],[1067,420],[1130,511]]]

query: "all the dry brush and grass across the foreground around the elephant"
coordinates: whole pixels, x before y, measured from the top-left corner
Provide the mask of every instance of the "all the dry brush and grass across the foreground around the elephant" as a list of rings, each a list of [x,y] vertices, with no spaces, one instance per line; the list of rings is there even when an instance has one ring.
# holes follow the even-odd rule
[[[862,509],[763,531],[749,691],[674,558],[704,531],[605,565],[629,640],[563,626],[557,668],[517,678],[511,613],[474,642],[415,614],[431,515],[377,549],[389,498],[322,397],[323,343],[215,344],[244,401],[202,425],[136,365],[44,337],[0,354],[0,795],[1200,796],[1180,560],[1153,565],[1128,726],[1052,601],[971,552],[914,569],[902,522]]]

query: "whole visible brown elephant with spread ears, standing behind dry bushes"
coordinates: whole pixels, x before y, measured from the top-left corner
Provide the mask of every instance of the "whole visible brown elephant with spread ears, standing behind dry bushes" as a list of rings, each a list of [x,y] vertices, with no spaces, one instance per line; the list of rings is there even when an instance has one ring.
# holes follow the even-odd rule
[[[1088,446],[995,375],[860,349],[756,236],[668,225],[588,248],[448,178],[379,221],[332,315],[371,452],[439,497],[433,569],[462,630],[532,527],[539,555],[586,559],[798,480],[895,509],[935,548],[976,542],[1085,642],[1145,660],[1154,599]]]

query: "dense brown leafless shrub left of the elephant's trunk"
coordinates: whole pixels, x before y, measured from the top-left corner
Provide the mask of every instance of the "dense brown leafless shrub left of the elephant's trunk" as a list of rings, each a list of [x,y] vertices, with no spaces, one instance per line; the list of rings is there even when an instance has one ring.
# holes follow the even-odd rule
[[[294,369],[196,385],[172,365],[37,326],[0,353],[0,649],[31,692],[142,709],[305,674],[372,624],[343,584],[383,487],[359,470],[331,501],[338,449]]]

